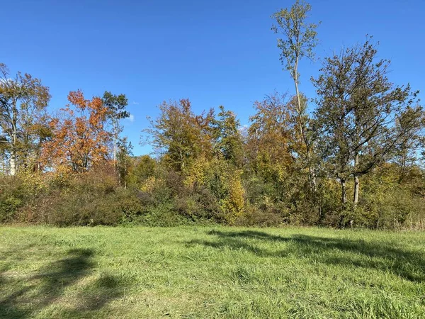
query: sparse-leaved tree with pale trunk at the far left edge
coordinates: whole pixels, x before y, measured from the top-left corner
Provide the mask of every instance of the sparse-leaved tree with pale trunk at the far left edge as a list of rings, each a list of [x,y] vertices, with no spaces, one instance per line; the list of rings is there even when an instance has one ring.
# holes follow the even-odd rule
[[[49,88],[40,79],[21,72],[11,77],[6,65],[0,63],[0,135],[6,140],[11,175],[16,174],[20,162],[28,163],[34,155],[35,140],[40,142],[49,134],[43,124],[49,100]]]

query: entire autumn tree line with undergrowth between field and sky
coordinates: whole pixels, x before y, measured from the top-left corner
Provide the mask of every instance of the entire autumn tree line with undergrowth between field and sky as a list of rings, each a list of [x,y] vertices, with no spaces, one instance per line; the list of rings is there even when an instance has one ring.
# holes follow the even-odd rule
[[[298,67],[317,45],[310,10],[296,1],[272,16],[293,95],[256,101],[247,128],[224,106],[163,102],[142,130],[154,156],[132,156],[121,136],[125,94],[71,91],[53,114],[40,79],[0,64],[0,220],[422,228],[419,91],[390,82],[367,36],[326,57],[315,96],[303,94]]]

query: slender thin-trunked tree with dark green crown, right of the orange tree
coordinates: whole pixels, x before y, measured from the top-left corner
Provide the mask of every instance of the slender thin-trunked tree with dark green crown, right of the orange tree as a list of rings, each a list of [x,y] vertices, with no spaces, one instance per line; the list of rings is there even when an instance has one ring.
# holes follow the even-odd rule
[[[103,93],[102,101],[103,105],[108,108],[108,119],[111,121],[113,162],[114,167],[116,168],[119,135],[123,131],[123,128],[120,125],[120,120],[130,116],[130,113],[125,110],[125,107],[128,106],[128,99],[125,94],[114,95],[110,91],[105,91],[105,93]]]

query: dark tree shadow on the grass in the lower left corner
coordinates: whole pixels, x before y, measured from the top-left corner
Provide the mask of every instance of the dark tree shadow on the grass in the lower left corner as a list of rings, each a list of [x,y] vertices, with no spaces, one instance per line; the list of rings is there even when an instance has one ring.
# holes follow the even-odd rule
[[[13,254],[9,256],[13,257]],[[14,257],[22,260],[22,256],[23,251],[20,250]],[[68,250],[63,258],[46,264],[32,276],[23,276],[11,272],[13,267],[4,267],[0,273],[0,291],[3,291],[3,296],[0,296],[0,318],[33,318],[61,301],[66,306],[60,308],[58,315],[81,315],[98,310],[118,298],[121,294],[118,289],[120,283],[113,276],[101,276],[90,281],[90,276],[94,274],[93,257],[94,250]],[[86,279],[89,284],[84,283]],[[66,289],[73,285],[81,287],[78,286],[77,296],[69,298]],[[77,306],[73,306],[73,303]]]

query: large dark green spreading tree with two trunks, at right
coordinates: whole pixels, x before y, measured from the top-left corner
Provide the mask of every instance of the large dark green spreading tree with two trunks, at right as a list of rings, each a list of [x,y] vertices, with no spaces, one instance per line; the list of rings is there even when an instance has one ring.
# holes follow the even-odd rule
[[[411,121],[395,129],[399,114],[414,103],[417,92],[409,85],[396,86],[387,78],[390,61],[378,60],[370,38],[324,60],[317,88],[317,123],[324,133],[321,145],[341,181],[354,178],[353,206],[359,196],[359,177],[387,160],[411,132]],[[407,120],[407,118],[404,118]],[[399,128],[401,126],[399,125]]]

